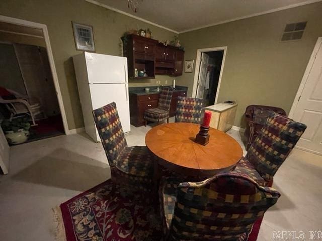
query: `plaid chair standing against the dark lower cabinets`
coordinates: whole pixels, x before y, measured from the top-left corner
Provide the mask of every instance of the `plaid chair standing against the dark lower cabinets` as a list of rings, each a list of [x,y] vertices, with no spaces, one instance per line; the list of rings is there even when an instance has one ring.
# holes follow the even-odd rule
[[[161,90],[157,108],[147,109],[144,112],[145,126],[147,121],[162,122],[167,119],[167,123],[169,123],[169,111],[172,93],[172,88],[163,88]]]

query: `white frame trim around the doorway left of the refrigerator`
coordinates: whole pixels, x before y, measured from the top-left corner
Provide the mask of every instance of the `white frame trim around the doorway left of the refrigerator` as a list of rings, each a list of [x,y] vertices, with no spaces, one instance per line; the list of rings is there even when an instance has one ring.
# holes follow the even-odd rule
[[[47,54],[48,54],[49,65],[50,65],[50,69],[51,69],[51,73],[52,73],[52,77],[53,77],[54,86],[56,89],[56,96],[58,99],[58,104],[59,104],[59,108],[60,108],[62,122],[64,125],[65,134],[67,134],[67,135],[72,134],[68,128],[66,112],[65,112],[65,108],[64,108],[64,104],[63,104],[63,100],[62,100],[62,95],[61,95],[61,91],[60,91],[60,86],[59,86],[59,82],[58,82],[58,76],[57,76],[57,72],[56,72],[54,57],[52,54],[51,45],[50,45],[50,41],[49,41],[49,34],[48,34],[48,30],[47,30],[47,25],[35,23],[35,22],[23,20],[23,19],[16,19],[16,18],[4,16],[4,15],[0,15],[0,22],[42,29],[44,39],[46,42],[46,49],[47,49]]]

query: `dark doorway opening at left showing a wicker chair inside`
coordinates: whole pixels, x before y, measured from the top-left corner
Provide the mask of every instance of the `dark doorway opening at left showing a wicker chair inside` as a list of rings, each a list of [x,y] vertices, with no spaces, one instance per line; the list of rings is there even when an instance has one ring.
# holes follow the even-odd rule
[[[0,21],[0,62],[4,131],[29,122],[25,142],[65,134],[43,30]]]

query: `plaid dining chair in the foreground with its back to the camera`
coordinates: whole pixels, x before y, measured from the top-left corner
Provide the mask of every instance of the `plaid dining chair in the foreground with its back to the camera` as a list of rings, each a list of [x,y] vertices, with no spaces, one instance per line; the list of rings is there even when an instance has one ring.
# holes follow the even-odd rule
[[[165,240],[246,241],[257,218],[280,194],[246,175],[221,173],[179,185],[164,178],[160,202]]]

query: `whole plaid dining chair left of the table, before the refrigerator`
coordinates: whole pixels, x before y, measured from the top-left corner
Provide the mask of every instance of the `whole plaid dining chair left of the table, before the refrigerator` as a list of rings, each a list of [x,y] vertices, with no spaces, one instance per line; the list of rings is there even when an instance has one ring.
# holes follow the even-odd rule
[[[115,102],[93,110],[113,183],[133,190],[150,191],[153,162],[145,146],[128,147]]]

